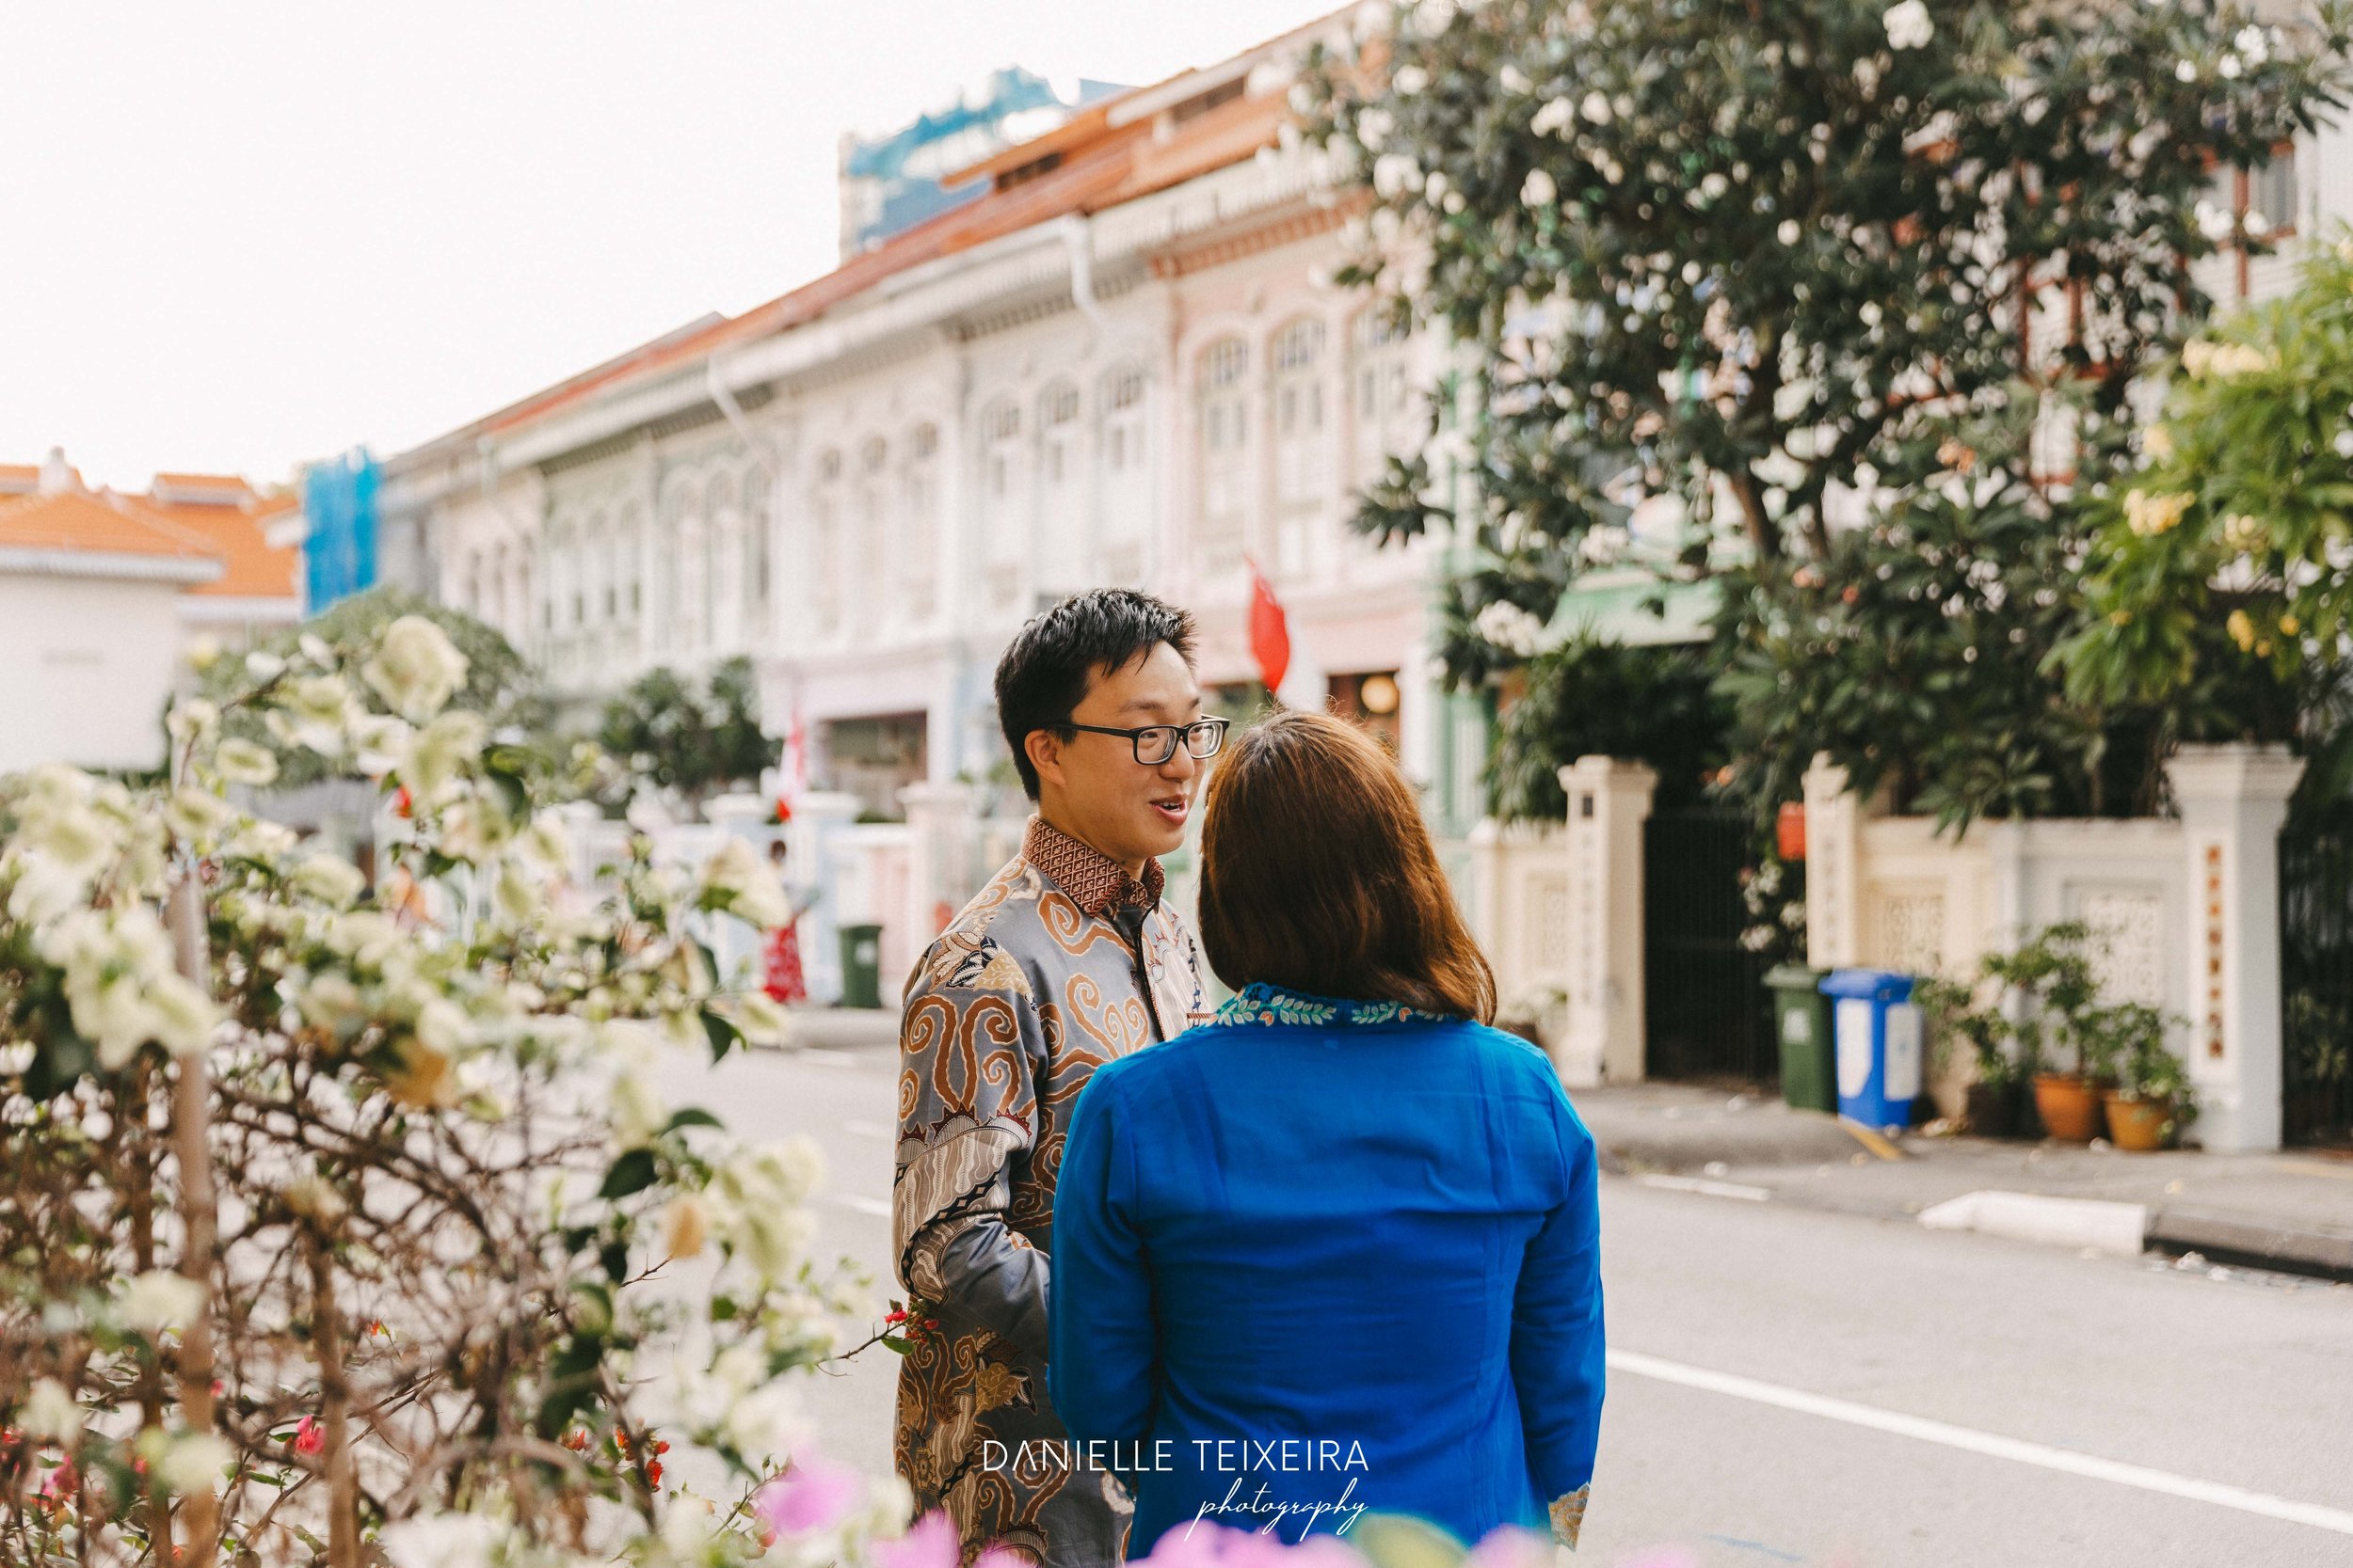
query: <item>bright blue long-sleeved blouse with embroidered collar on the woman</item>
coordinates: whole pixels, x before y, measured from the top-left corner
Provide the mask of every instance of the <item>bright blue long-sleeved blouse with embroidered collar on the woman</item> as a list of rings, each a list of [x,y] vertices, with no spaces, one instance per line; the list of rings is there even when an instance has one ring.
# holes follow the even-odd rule
[[[1054,1408],[1136,1490],[1285,1540],[1360,1509],[1577,1542],[1602,1406],[1593,1138],[1544,1053],[1252,985],[1096,1067],[1052,1237]]]

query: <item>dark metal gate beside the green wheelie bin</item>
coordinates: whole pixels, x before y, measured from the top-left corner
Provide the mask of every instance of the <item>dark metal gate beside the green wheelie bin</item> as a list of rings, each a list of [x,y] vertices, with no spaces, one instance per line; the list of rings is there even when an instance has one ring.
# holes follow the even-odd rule
[[[1642,1009],[1654,1079],[1781,1077],[1767,1020],[1765,957],[1741,947],[1741,811],[1661,811],[1642,825]]]

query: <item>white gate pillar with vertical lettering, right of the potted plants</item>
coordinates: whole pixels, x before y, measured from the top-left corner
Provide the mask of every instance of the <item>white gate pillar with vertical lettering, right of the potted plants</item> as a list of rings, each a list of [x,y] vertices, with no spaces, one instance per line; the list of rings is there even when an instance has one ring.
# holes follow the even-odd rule
[[[2285,745],[2184,745],[2165,764],[2191,896],[2188,1072],[2198,1140],[2280,1147],[2280,825],[2304,762]]]

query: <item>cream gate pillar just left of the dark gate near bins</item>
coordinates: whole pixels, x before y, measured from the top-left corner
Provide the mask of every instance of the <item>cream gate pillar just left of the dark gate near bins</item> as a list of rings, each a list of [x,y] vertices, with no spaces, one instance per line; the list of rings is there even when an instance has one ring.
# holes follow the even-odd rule
[[[1560,1077],[1638,1084],[1649,1044],[1642,997],[1642,823],[1659,773],[1640,762],[1579,757],[1560,769],[1569,797],[1569,1025]]]

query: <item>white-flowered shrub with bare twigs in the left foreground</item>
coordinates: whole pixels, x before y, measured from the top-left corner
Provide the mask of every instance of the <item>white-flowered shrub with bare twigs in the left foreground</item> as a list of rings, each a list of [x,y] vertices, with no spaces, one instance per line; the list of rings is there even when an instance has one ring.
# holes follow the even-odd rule
[[[165,785],[0,792],[0,1556],[800,1552],[758,1488],[856,1305],[807,1258],[816,1150],[652,1074],[784,1027],[706,943],[776,917],[765,865],[576,886],[426,618],[207,675]],[[402,804],[374,893],[228,802],[287,755]],[[835,1495],[831,1556],[906,1523]]]

